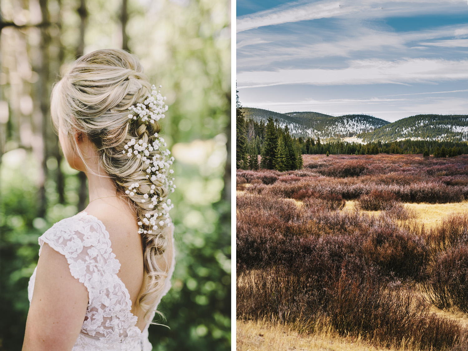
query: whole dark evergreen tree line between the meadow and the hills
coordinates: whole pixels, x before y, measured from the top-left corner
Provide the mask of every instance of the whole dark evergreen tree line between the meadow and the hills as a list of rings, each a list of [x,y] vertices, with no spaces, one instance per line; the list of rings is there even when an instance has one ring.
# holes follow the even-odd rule
[[[349,143],[340,139],[319,137],[294,138],[287,125],[281,127],[278,119],[268,117],[257,122],[246,118],[236,96],[236,168],[277,169],[279,171],[303,167],[303,154],[423,154],[424,157],[454,157],[468,154],[468,143],[463,141],[400,140],[388,142]],[[258,161],[261,155],[261,161]]]

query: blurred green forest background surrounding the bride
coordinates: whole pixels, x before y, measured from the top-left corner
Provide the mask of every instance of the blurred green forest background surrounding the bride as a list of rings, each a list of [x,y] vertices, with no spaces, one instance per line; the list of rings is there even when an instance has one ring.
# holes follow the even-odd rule
[[[0,350],[20,350],[37,238],[87,204],[63,159],[52,84],[74,59],[123,48],[162,85],[176,162],[177,264],[154,350],[230,349],[230,3],[228,0],[1,0]]]

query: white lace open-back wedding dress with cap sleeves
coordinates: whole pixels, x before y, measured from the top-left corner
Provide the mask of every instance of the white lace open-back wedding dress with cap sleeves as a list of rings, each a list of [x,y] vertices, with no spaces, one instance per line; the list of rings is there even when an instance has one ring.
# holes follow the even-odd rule
[[[151,351],[149,324],[143,332],[135,326],[137,317],[130,312],[130,294],[117,276],[120,263],[110,248],[109,233],[102,222],[80,212],[55,223],[39,237],[39,255],[44,242],[66,257],[72,276],[88,289],[88,309],[72,350]],[[171,287],[174,263],[173,259],[158,304]],[[36,270],[29,279],[29,302],[35,279]]]

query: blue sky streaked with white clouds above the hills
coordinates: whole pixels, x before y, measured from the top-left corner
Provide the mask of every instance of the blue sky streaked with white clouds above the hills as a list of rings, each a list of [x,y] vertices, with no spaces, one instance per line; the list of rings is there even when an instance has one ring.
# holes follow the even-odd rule
[[[242,106],[468,115],[468,0],[237,0]]]

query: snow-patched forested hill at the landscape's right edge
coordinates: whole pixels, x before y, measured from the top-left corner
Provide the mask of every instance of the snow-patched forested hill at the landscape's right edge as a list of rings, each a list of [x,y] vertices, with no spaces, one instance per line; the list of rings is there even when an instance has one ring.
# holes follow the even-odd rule
[[[364,142],[399,139],[467,141],[468,115],[417,115],[400,119],[358,138]]]

